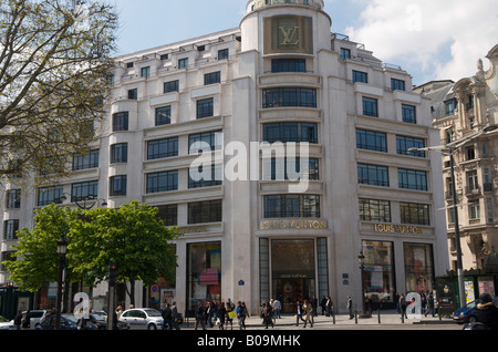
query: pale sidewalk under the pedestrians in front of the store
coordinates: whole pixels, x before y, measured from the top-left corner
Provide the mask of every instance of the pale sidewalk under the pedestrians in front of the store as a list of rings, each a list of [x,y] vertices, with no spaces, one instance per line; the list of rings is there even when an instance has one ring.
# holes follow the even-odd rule
[[[408,315],[409,317],[409,315]],[[350,319],[349,314],[335,314],[335,321],[332,317],[325,317],[325,315],[318,315],[314,317],[314,324],[315,327],[330,327],[333,328],[334,325],[339,327],[351,327],[354,328],[356,325],[373,325],[376,327],[383,327],[383,325],[409,325],[409,324],[456,324],[452,319],[449,318],[442,318],[439,317],[432,317],[427,315],[418,317],[419,319],[401,319],[401,314],[398,314],[395,310],[387,310],[387,311],[381,311],[381,317],[378,317],[378,312],[374,311],[372,312],[372,318],[353,318]],[[381,322],[378,322],[378,320]],[[303,327],[303,321],[299,322],[299,327]],[[195,321],[189,321],[189,327],[187,329],[194,328]],[[225,324],[228,329],[230,329],[230,324]],[[264,329],[264,325],[262,323],[262,319],[258,315],[251,315],[250,318],[246,319],[246,327],[247,329]],[[276,327],[288,327],[289,329],[295,328],[295,317],[293,314],[282,314],[281,319],[276,319]],[[308,324],[309,327],[309,324]],[[186,328],[186,322],[184,322],[183,328]],[[208,330],[211,329],[208,327]],[[214,327],[212,329],[216,329]],[[238,322],[237,319],[234,320],[234,330],[238,329]],[[270,327],[271,329],[271,327]]]

